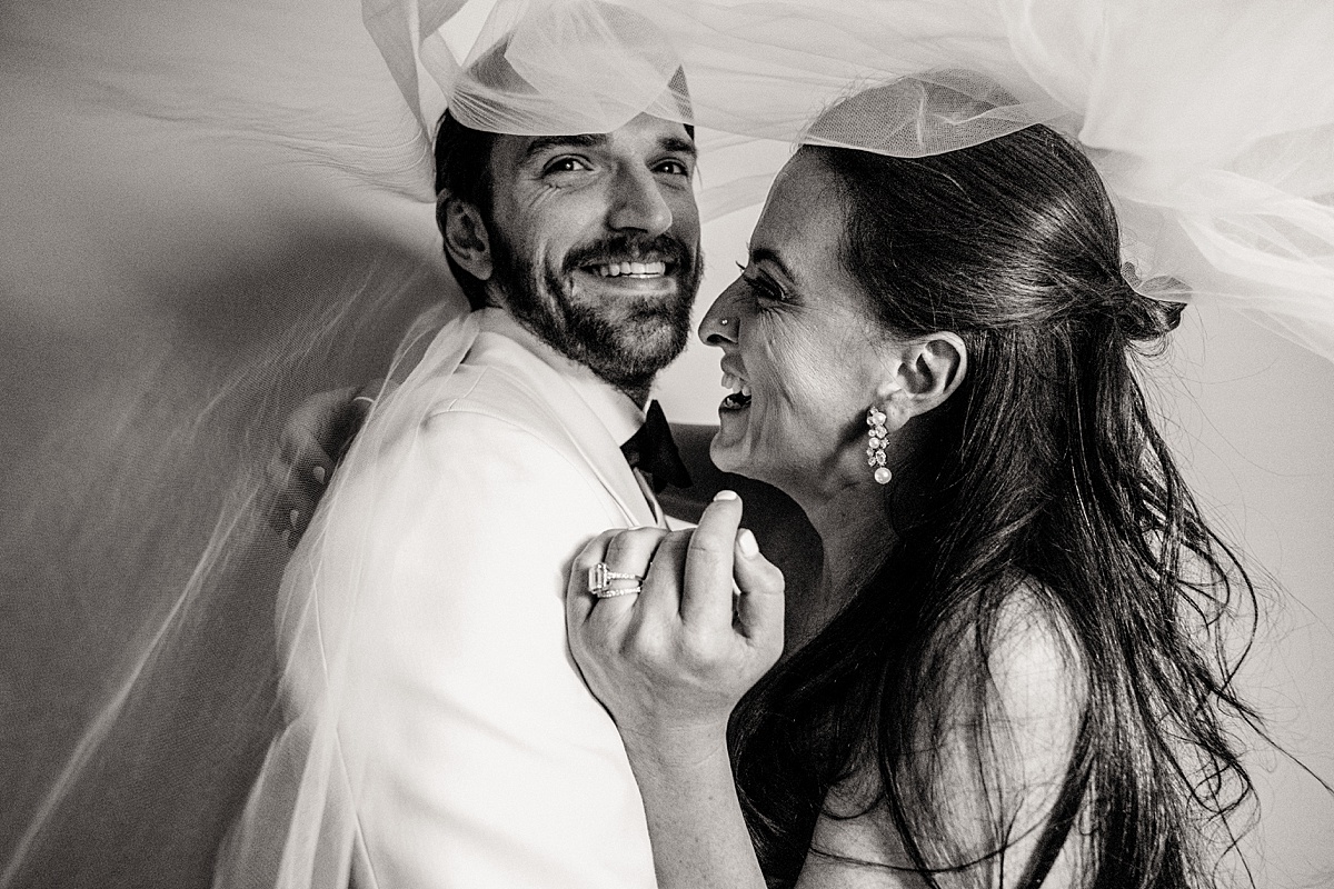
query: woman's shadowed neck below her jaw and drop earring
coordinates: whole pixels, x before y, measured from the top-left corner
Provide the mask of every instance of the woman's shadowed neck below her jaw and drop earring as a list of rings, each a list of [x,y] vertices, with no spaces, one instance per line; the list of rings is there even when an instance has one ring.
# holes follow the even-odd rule
[[[788,600],[787,653],[810,641],[870,581],[898,540],[884,508],[884,488],[855,485],[802,509],[820,537],[819,578]]]

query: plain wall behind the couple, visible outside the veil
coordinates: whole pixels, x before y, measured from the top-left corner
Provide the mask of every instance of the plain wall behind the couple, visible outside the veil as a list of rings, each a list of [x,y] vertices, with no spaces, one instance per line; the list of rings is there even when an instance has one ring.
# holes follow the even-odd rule
[[[236,468],[458,299],[415,127],[355,0],[0,5],[0,853],[33,793],[5,777],[59,758],[52,726],[180,588]],[[752,220],[710,227],[696,316]],[[350,295],[336,349],[237,383]],[[668,415],[711,423],[719,376],[694,343]],[[1154,376],[1197,493],[1277,581],[1247,688],[1334,777],[1334,364],[1202,307]],[[1251,764],[1259,885],[1334,885],[1334,800],[1271,750]]]

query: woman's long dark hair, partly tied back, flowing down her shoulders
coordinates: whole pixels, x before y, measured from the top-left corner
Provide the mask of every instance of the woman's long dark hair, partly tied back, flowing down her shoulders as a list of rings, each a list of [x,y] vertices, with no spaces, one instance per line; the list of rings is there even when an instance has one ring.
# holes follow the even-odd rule
[[[795,880],[826,794],[874,764],[867,808],[898,828],[904,866],[931,885],[951,870],[991,885],[1015,840],[1006,813],[990,848],[960,837],[922,740],[963,700],[986,781],[987,666],[1022,590],[1070,640],[1082,716],[1021,885],[1039,885],[1071,836],[1085,885],[1213,885],[1210,842],[1227,842],[1253,796],[1229,726],[1255,714],[1223,628],[1254,614],[1255,590],[1202,520],[1137,377],[1182,307],[1129,287],[1102,183],[1046,127],[923,159],[802,151],[838,183],[842,260],[883,329],[954,331],[968,371],[920,419],[938,446],[912,472],[930,496],[891,508],[899,542],[874,580],[734,713],[766,873]]]

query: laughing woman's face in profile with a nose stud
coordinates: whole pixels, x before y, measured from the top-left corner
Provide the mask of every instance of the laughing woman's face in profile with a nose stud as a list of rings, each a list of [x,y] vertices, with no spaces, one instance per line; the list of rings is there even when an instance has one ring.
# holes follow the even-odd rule
[[[874,484],[866,412],[886,379],[886,340],[838,255],[843,205],[808,152],[783,168],[742,276],[710,307],[700,339],[723,351],[718,468],[808,505]]]

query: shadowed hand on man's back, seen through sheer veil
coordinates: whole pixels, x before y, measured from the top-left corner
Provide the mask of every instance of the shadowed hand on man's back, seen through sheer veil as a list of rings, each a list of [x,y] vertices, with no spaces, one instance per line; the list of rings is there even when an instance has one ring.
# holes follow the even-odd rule
[[[264,468],[264,489],[272,506],[268,522],[292,549],[311,524],[352,439],[366,421],[383,384],[348,387],[312,395],[287,419],[277,452]]]

